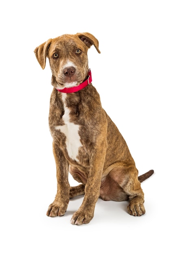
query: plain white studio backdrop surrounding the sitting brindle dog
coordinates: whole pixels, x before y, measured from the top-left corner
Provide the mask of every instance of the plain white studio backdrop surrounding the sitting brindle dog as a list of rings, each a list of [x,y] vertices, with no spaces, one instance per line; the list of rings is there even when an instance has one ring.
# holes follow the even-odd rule
[[[0,254],[180,254],[182,4],[177,0],[30,1],[1,3]],[[118,126],[143,182],[146,214],[129,216],[127,202],[98,200],[93,220],[49,218],[56,193],[48,129],[49,64],[33,50],[48,38],[90,32],[92,84]],[[70,177],[70,184],[75,182]]]

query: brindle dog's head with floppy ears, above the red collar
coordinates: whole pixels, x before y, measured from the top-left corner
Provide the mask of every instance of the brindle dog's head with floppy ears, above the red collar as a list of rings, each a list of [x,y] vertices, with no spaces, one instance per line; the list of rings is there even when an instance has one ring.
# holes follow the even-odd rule
[[[77,86],[88,74],[88,49],[94,45],[99,51],[98,40],[90,33],[65,34],[49,39],[35,50],[37,61],[42,69],[49,59],[52,71],[52,84],[57,89]]]

